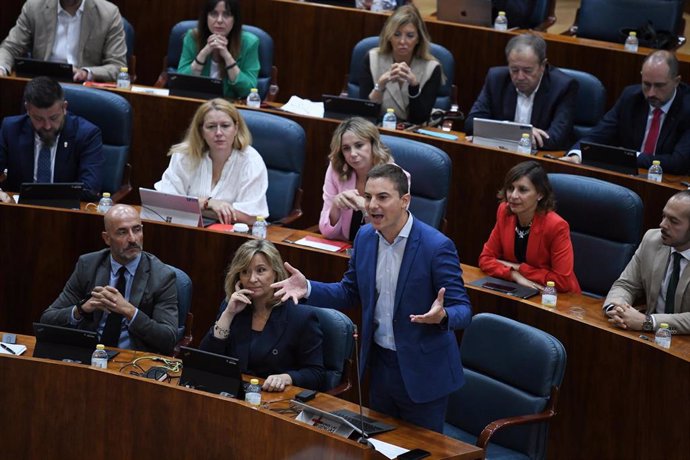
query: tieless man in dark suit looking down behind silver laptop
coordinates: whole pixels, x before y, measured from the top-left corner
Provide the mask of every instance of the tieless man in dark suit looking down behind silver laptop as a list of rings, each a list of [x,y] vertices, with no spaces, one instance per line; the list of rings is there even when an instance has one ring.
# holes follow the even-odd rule
[[[577,81],[547,64],[546,42],[539,36],[513,37],[505,52],[508,66],[489,69],[465,133],[472,135],[475,118],[529,123],[533,147],[565,149],[572,141]]]

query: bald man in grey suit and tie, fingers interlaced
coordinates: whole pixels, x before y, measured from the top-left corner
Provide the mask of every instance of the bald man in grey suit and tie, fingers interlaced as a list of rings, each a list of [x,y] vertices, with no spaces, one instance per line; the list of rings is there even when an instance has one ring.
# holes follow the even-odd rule
[[[169,355],[177,336],[175,272],[143,251],[136,209],[115,205],[104,222],[110,249],[79,258],[41,322],[97,331],[107,346]]]

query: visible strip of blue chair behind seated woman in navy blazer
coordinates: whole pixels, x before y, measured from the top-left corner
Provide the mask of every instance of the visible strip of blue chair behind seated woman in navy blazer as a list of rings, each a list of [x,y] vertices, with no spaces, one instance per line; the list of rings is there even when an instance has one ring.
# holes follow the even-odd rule
[[[339,395],[352,388],[350,369],[354,349],[352,320],[342,312],[332,308],[319,308],[300,305],[298,308],[311,308],[319,318],[323,333],[323,363],[326,367],[326,384],[328,394]]]

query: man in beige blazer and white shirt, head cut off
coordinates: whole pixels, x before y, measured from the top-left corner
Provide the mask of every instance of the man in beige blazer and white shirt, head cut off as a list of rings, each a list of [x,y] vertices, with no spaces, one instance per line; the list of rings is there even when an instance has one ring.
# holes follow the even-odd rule
[[[27,52],[72,64],[74,81],[115,81],[127,65],[120,10],[105,0],[27,0],[0,44],[0,76]]]

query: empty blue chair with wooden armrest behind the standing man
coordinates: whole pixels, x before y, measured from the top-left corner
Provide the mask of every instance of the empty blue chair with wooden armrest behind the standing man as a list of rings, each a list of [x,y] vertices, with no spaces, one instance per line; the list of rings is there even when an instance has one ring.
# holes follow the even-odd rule
[[[502,316],[472,318],[460,348],[465,385],[451,393],[443,432],[487,459],[543,459],[566,352],[555,337]]]

